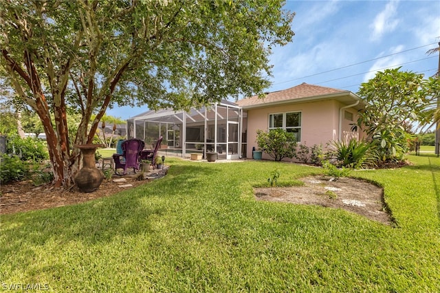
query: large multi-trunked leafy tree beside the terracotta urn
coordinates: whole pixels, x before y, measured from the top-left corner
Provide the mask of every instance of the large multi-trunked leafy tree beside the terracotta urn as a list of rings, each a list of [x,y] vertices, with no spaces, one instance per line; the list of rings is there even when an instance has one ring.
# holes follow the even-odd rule
[[[43,123],[56,184],[69,184],[78,165],[72,146],[92,142],[107,107],[188,109],[261,94],[269,85],[271,47],[294,35],[294,14],[282,6],[279,0],[3,1],[0,62]],[[68,106],[81,114],[77,133],[67,129]]]

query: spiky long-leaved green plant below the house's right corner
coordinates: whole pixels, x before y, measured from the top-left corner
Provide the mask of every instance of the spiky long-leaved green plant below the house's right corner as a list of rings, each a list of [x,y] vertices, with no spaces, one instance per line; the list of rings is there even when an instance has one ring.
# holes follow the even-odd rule
[[[333,142],[327,158],[334,161],[336,166],[359,169],[374,165],[377,155],[372,144],[351,139],[349,143]]]

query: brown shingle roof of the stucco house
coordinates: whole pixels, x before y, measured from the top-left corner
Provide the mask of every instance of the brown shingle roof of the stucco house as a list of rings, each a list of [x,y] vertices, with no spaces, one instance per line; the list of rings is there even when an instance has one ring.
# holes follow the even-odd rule
[[[314,98],[319,96],[328,96],[332,94],[347,94],[349,91],[342,89],[332,89],[331,87],[320,87],[319,85],[309,85],[302,83],[296,87],[274,91],[266,94],[264,98],[252,96],[236,101],[241,107],[252,107],[256,105],[270,104],[275,102],[292,101],[302,98]]]

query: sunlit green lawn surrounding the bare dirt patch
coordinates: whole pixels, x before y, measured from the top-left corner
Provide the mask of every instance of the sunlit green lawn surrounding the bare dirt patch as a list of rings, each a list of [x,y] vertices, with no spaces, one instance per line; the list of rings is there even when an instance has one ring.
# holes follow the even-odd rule
[[[54,292],[440,292],[440,159],[353,171],[384,186],[397,227],[318,206],[256,202],[321,169],[167,158],[113,197],[0,217],[0,282]],[[1,287],[1,286],[0,286]]]

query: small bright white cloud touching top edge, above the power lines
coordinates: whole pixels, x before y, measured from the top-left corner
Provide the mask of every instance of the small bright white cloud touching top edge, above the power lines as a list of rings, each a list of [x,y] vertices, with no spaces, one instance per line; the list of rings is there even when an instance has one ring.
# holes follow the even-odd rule
[[[399,19],[395,18],[399,1],[390,1],[386,4],[385,9],[376,15],[370,28],[373,29],[371,40],[377,41],[387,32],[393,32],[399,24]]]

